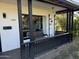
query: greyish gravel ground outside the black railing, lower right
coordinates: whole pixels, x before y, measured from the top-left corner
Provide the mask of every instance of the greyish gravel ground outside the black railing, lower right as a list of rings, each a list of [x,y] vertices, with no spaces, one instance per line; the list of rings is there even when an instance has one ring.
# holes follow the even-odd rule
[[[79,37],[35,59],[79,59]]]

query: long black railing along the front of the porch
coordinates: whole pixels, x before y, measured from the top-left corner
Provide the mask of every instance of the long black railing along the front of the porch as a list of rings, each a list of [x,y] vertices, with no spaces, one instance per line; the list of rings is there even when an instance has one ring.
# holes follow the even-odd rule
[[[69,33],[28,42],[22,44],[24,46],[22,49],[22,57],[23,59],[34,59],[36,56],[46,53],[47,51],[55,49],[68,42],[71,42],[71,35]]]

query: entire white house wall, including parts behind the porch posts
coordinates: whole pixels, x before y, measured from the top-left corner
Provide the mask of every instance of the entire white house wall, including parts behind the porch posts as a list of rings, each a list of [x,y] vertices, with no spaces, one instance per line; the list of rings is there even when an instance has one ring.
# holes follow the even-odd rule
[[[13,0],[12,0],[13,1]],[[19,39],[19,22],[17,14],[17,4],[8,3],[5,0],[0,2],[0,34],[1,34],[1,43],[2,51],[9,51],[20,47]],[[43,16],[43,31],[45,34],[49,34],[49,24],[48,24],[48,15],[53,21],[50,25],[50,34],[54,36],[54,14],[56,9],[49,8],[45,4],[39,4],[33,2],[33,15],[42,15]],[[3,13],[6,13],[6,19],[3,18]],[[28,14],[27,4],[22,5],[22,13]],[[3,30],[3,26],[12,26],[11,30]]]

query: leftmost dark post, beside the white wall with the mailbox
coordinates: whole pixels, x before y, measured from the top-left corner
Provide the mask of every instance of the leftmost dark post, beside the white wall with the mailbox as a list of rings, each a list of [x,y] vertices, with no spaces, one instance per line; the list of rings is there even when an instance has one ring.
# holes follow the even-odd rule
[[[20,36],[20,54],[21,54],[21,59],[23,59],[23,49],[24,46],[23,44],[23,31],[22,31],[22,9],[21,9],[21,0],[17,0],[17,9],[18,9],[18,21],[19,21],[19,36]]]

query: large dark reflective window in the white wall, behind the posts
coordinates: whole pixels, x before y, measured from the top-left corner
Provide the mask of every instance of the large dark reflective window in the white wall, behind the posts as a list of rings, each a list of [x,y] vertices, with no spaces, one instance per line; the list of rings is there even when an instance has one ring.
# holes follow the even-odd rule
[[[28,15],[23,14],[22,16],[22,21],[23,21],[23,34],[24,37],[29,37],[29,19]],[[33,15],[32,16],[32,21],[33,21],[33,31],[42,31],[43,29],[43,17],[38,16],[38,15]]]

